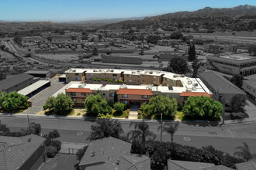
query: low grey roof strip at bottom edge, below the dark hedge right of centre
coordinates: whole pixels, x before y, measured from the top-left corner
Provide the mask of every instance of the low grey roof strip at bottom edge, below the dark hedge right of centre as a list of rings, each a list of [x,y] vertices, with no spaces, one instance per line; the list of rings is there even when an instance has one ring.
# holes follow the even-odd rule
[[[211,163],[168,160],[168,170],[203,170],[213,166]]]

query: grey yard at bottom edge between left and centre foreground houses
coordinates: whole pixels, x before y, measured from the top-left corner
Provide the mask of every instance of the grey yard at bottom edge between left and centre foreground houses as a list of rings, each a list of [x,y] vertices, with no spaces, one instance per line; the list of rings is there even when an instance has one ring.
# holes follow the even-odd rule
[[[75,155],[58,154],[49,162],[45,162],[40,170],[71,170],[77,163]]]

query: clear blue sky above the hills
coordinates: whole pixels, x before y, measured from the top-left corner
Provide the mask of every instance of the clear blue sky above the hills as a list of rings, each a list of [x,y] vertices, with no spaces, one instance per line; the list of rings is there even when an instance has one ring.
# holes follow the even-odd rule
[[[256,0],[0,0],[1,21],[85,21],[256,5]]]

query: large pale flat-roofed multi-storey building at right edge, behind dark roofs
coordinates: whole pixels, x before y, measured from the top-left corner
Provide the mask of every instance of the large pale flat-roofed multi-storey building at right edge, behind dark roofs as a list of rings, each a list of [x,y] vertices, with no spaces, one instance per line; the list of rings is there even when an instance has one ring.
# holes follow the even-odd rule
[[[221,73],[244,76],[256,73],[256,58],[251,56],[206,56],[206,63]]]

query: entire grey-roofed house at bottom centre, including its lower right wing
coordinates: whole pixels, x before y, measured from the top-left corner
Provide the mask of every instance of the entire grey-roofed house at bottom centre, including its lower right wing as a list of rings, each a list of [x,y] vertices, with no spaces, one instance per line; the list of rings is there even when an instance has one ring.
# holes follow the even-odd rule
[[[131,155],[131,144],[116,138],[102,138],[88,146],[81,158],[81,170],[150,170],[150,158]]]

